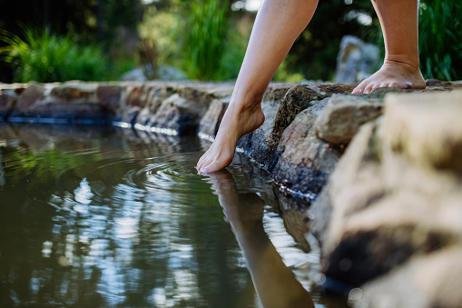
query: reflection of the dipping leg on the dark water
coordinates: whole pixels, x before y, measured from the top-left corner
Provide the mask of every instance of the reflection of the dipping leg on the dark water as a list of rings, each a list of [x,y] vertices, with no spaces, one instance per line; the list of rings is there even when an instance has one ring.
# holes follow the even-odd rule
[[[238,194],[226,171],[211,174],[208,182],[219,196],[263,307],[314,307],[310,293],[282,262],[263,229],[264,201],[257,194]]]

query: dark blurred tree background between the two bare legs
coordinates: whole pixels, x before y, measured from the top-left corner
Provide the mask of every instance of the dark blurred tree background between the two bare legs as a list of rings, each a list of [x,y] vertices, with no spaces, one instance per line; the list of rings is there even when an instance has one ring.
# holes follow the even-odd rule
[[[378,29],[378,18],[369,1],[319,1],[310,25],[295,41],[285,65],[307,79],[332,80],[341,38],[355,35],[375,43]]]

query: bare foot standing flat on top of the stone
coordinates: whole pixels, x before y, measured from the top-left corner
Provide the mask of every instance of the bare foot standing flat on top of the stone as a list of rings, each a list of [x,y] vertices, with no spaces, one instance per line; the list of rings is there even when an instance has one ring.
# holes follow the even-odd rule
[[[386,60],[378,72],[363,80],[352,94],[369,94],[373,90],[383,87],[424,89],[425,80],[418,67]]]

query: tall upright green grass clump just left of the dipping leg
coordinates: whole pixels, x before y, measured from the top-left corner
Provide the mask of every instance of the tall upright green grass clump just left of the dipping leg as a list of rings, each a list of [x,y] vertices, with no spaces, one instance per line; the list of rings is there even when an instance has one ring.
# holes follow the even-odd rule
[[[192,79],[216,80],[222,74],[221,59],[228,34],[229,0],[185,2],[182,59]]]

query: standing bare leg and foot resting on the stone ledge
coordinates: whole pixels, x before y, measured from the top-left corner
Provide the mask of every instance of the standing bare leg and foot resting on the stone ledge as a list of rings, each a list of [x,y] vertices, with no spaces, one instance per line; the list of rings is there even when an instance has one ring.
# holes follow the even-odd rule
[[[425,88],[418,68],[418,0],[372,0],[385,39],[385,60],[353,94],[379,87]]]

